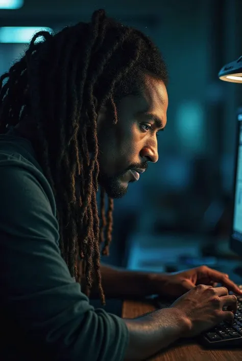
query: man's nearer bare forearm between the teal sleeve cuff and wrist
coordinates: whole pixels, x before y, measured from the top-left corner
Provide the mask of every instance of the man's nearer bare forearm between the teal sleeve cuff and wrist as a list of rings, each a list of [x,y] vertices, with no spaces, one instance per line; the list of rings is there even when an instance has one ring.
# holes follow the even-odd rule
[[[125,320],[129,346],[125,360],[144,360],[171,345],[187,331],[189,323],[175,309],[164,308],[134,320]]]

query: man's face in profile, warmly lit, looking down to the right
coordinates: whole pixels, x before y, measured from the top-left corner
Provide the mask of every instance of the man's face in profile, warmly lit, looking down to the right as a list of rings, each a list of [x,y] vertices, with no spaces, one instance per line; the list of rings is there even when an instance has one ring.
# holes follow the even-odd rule
[[[123,197],[148,162],[157,162],[157,133],[166,124],[167,106],[164,83],[147,75],[141,95],[126,96],[116,104],[116,124],[110,110],[99,112],[99,181],[109,197]]]

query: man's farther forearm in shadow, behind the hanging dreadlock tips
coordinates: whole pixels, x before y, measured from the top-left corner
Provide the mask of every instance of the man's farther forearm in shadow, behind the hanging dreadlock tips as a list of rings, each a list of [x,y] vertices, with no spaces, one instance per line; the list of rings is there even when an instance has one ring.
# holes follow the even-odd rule
[[[152,274],[147,272],[130,271],[124,268],[101,266],[102,283],[107,298],[121,298],[139,296],[144,297],[152,294]],[[159,274],[159,282],[162,283],[162,274]],[[165,278],[164,278],[165,282]],[[82,285],[85,279],[82,279]],[[94,285],[91,297],[98,297],[98,288]]]

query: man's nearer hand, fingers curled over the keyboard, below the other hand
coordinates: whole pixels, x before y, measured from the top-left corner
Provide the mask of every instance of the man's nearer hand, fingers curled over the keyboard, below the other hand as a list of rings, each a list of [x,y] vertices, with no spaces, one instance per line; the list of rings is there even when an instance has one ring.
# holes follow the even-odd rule
[[[224,311],[223,307],[227,310]],[[182,337],[192,337],[223,321],[233,321],[237,298],[234,294],[229,295],[225,287],[198,285],[177,299],[170,308],[178,310],[183,320],[187,320],[189,327]]]

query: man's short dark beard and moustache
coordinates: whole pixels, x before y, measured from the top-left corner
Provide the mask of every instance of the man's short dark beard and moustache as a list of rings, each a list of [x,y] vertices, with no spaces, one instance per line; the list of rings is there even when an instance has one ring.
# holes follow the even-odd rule
[[[115,176],[107,176],[104,173],[100,172],[99,174],[99,183],[105,189],[108,197],[110,198],[123,198],[128,192],[128,183],[124,184],[120,178],[129,171],[129,169],[141,168],[147,169],[148,163],[133,163],[125,171],[116,174]],[[130,180],[129,183],[133,183],[135,180]]]

